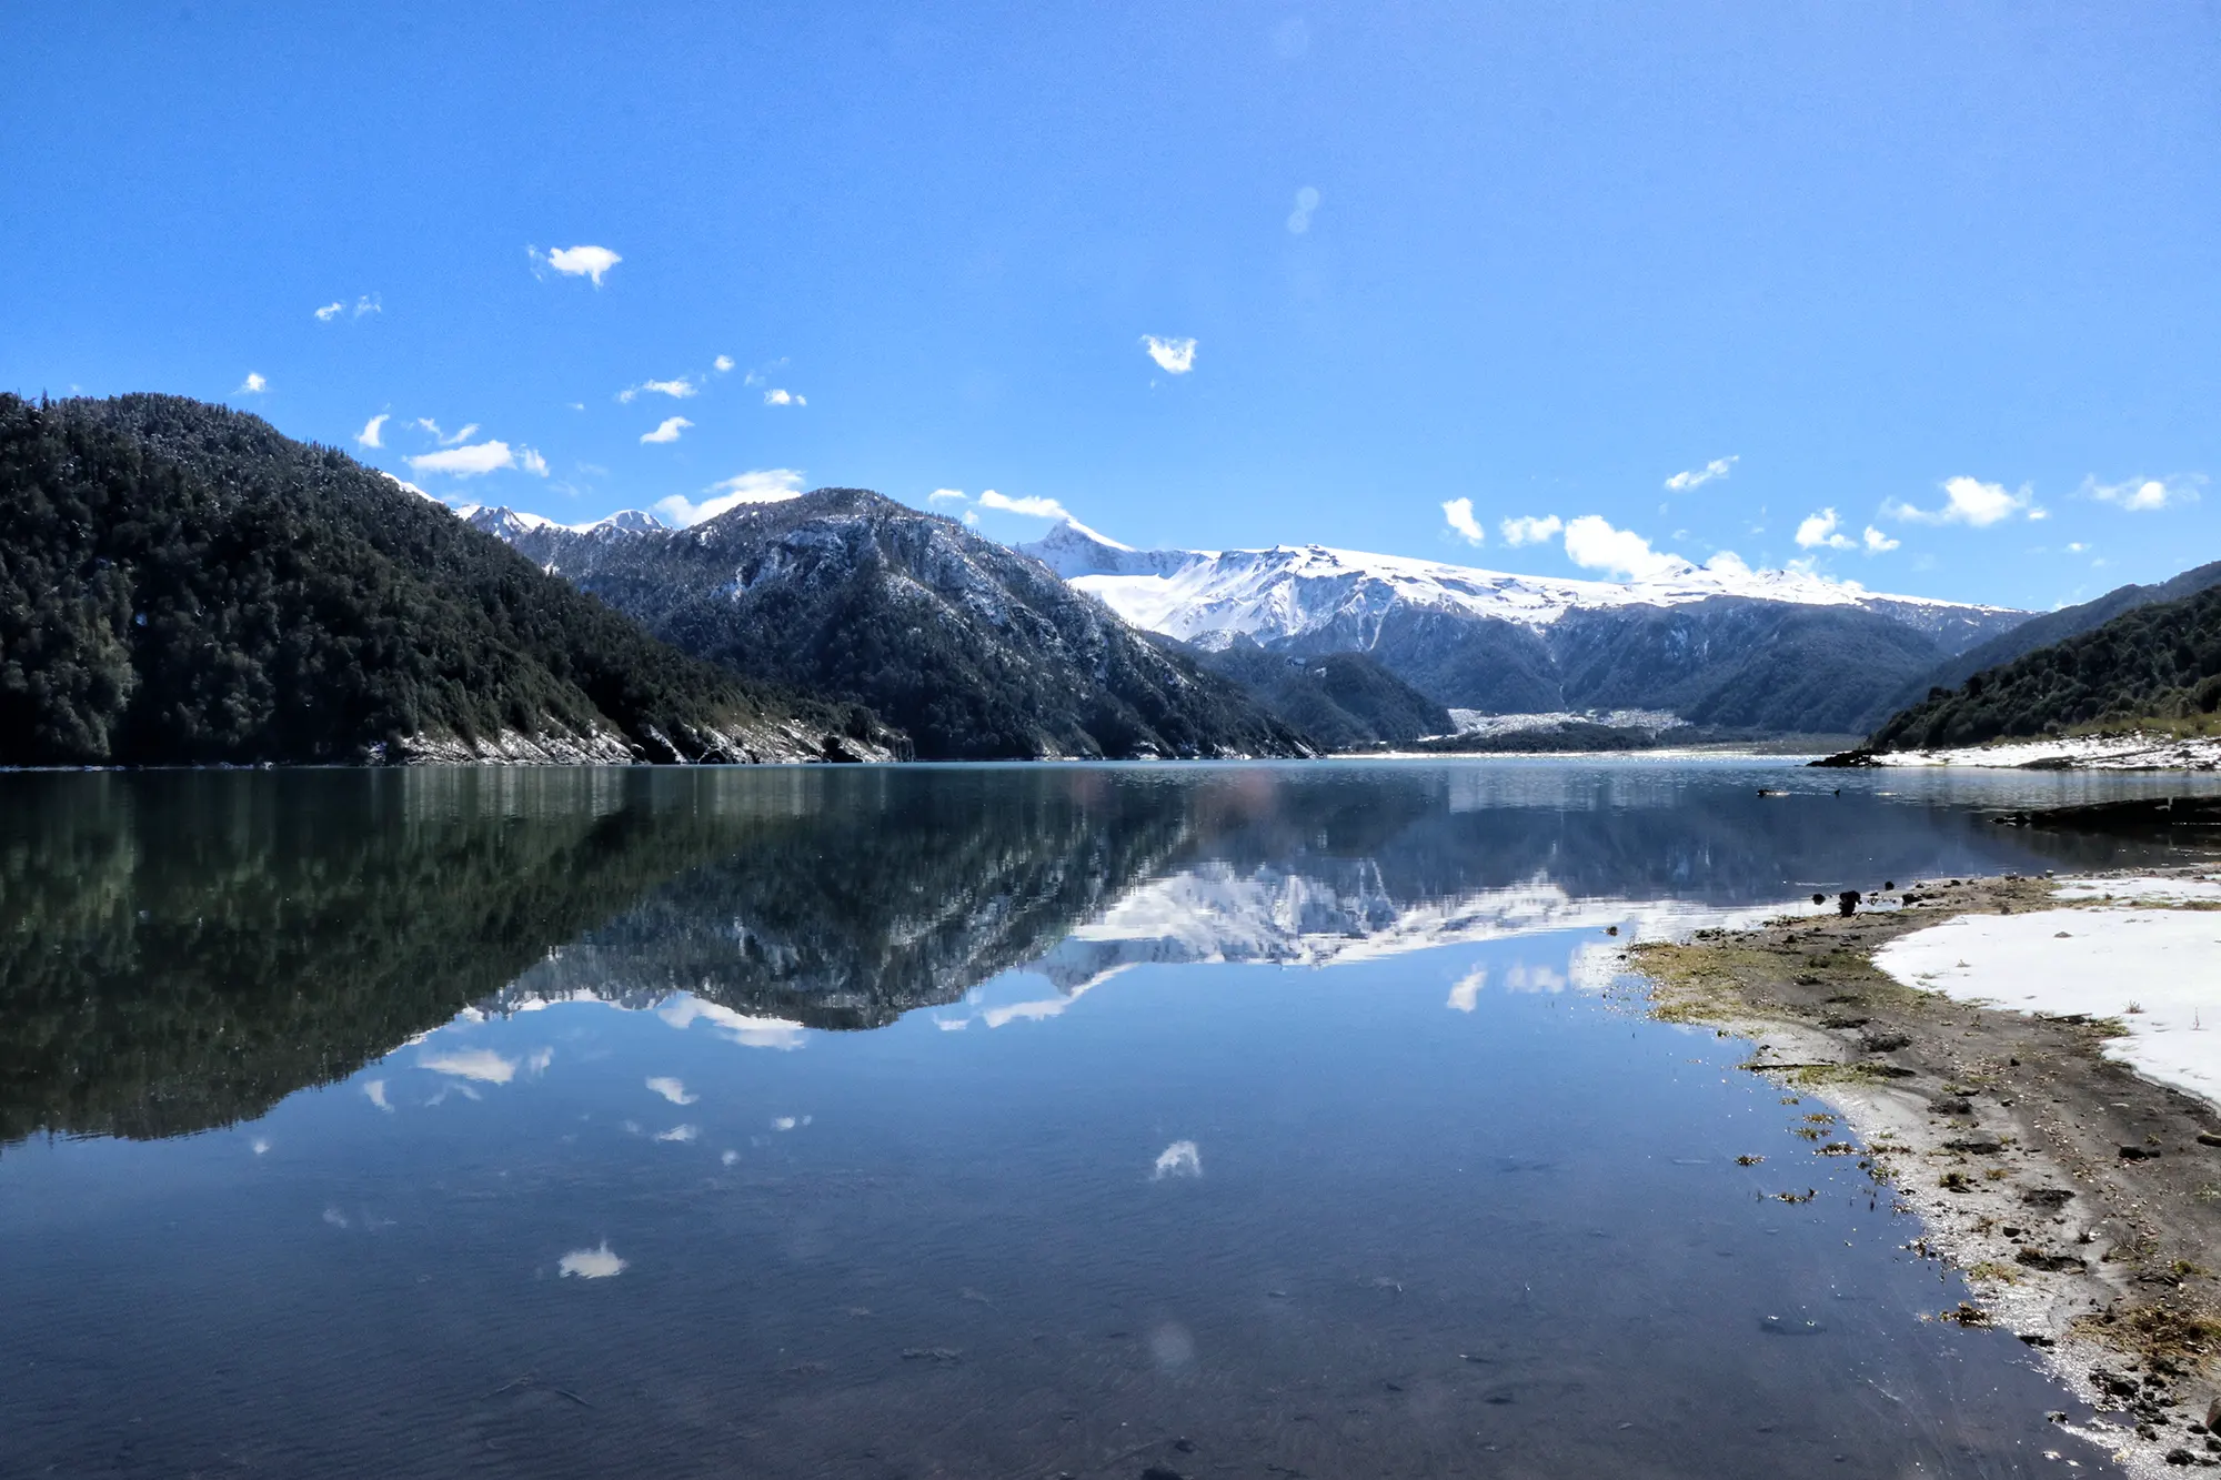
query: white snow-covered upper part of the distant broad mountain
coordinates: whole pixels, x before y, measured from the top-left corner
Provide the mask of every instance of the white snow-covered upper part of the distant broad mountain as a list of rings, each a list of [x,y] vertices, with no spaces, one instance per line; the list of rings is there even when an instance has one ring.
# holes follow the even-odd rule
[[[1510,576],[1324,544],[1133,549],[1079,522],[1064,522],[1019,549],[1135,627],[1199,647],[1224,647],[1237,636],[1273,644],[1333,631],[1337,640],[1348,640],[1346,647],[1370,649],[1381,620],[1397,607],[1544,629],[1570,611],[1681,607],[1726,596],[1872,611],[1957,651],[2028,616],[1921,596],[1879,596],[1812,571],[1755,571],[1735,556],[1717,556],[1708,564],[1679,560],[1648,580],[1608,582]]]

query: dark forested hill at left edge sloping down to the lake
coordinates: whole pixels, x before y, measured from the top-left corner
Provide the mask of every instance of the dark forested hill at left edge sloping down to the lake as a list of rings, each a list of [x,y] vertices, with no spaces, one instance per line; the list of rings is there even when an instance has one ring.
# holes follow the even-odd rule
[[[0,396],[0,764],[888,756],[344,453],[173,396]]]

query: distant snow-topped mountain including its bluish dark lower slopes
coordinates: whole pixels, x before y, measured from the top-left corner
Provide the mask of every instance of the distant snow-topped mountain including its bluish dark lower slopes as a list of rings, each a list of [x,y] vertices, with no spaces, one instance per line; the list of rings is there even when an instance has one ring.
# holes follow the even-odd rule
[[[1941,658],[2026,616],[1732,558],[1612,584],[1324,547],[1135,551],[1079,524],[1024,549],[1139,627],[1204,649],[1366,653],[1433,702],[1481,713],[1635,707],[1866,729]]]

